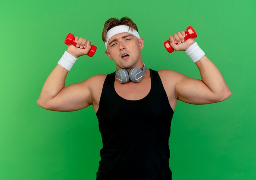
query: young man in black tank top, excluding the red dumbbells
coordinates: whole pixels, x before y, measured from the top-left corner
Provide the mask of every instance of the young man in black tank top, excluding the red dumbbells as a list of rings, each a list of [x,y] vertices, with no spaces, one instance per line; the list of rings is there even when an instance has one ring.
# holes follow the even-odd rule
[[[231,96],[220,71],[193,39],[184,37],[185,31],[175,33],[170,45],[191,57],[202,80],[146,69],[140,51],[144,39],[136,24],[130,18],[110,18],[102,39],[116,72],[64,87],[74,62],[91,48],[90,41],[75,37],[76,47],[68,46],[45,81],[37,101],[40,107],[76,111],[92,104],[103,141],[97,180],[171,180],[168,140],[177,100],[209,104]]]

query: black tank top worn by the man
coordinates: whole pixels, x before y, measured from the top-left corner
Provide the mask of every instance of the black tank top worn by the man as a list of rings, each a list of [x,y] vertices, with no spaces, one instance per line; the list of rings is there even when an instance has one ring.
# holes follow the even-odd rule
[[[103,84],[96,113],[103,147],[96,180],[171,180],[169,167],[173,109],[157,73],[140,100],[126,100],[114,88],[115,72]]]

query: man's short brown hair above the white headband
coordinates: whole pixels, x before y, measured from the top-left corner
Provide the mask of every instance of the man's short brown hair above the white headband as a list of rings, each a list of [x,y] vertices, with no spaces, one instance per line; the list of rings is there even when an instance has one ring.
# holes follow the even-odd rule
[[[106,42],[106,38],[107,38],[106,36],[107,36],[108,30],[110,30],[112,27],[116,27],[119,25],[129,26],[132,29],[135,29],[136,31],[139,32],[137,25],[128,17],[123,17],[120,20],[117,18],[109,18],[104,24],[104,28],[102,31],[102,40]]]

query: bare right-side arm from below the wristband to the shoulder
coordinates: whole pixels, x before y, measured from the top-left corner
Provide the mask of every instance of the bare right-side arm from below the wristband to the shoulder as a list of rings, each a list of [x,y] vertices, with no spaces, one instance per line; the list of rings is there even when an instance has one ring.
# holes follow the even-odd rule
[[[191,104],[209,104],[223,101],[231,96],[231,91],[217,67],[203,56],[195,63],[202,80],[178,76],[175,88],[178,100]]]

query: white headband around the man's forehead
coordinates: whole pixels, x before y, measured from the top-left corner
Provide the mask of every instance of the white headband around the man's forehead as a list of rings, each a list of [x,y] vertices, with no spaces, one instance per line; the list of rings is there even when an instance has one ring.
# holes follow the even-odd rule
[[[108,41],[110,40],[110,38],[112,38],[113,36],[119,33],[131,33],[132,35],[134,35],[136,38],[139,39],[139,33],[135,29],[132,29],[131,27],[126,25],[115,26],[110,30],[108,30],[107,32],[107,39],[105,41],[106,49],[108,49]]]

